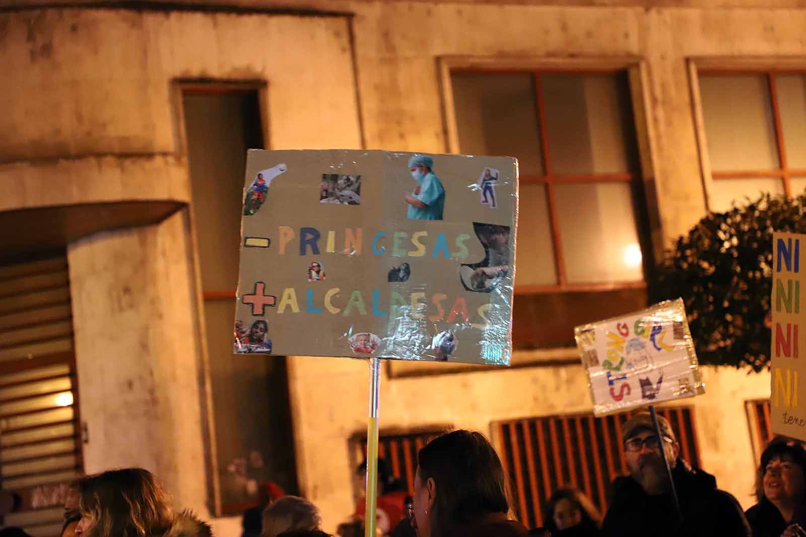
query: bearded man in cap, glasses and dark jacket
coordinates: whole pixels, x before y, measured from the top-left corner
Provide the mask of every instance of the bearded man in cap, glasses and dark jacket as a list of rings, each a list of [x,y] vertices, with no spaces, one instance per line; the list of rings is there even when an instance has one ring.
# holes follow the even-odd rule
[[[613,481],[601,535],[750,537],[750,527],[736,498],[717,489],[717,480],[712,475],[692,469],[679,457],[680,445],[671,425],[663,416],[658,416],[658,422],[682,518],[675,510],[651,415],[639,412],[621,428],[629,476]]]

